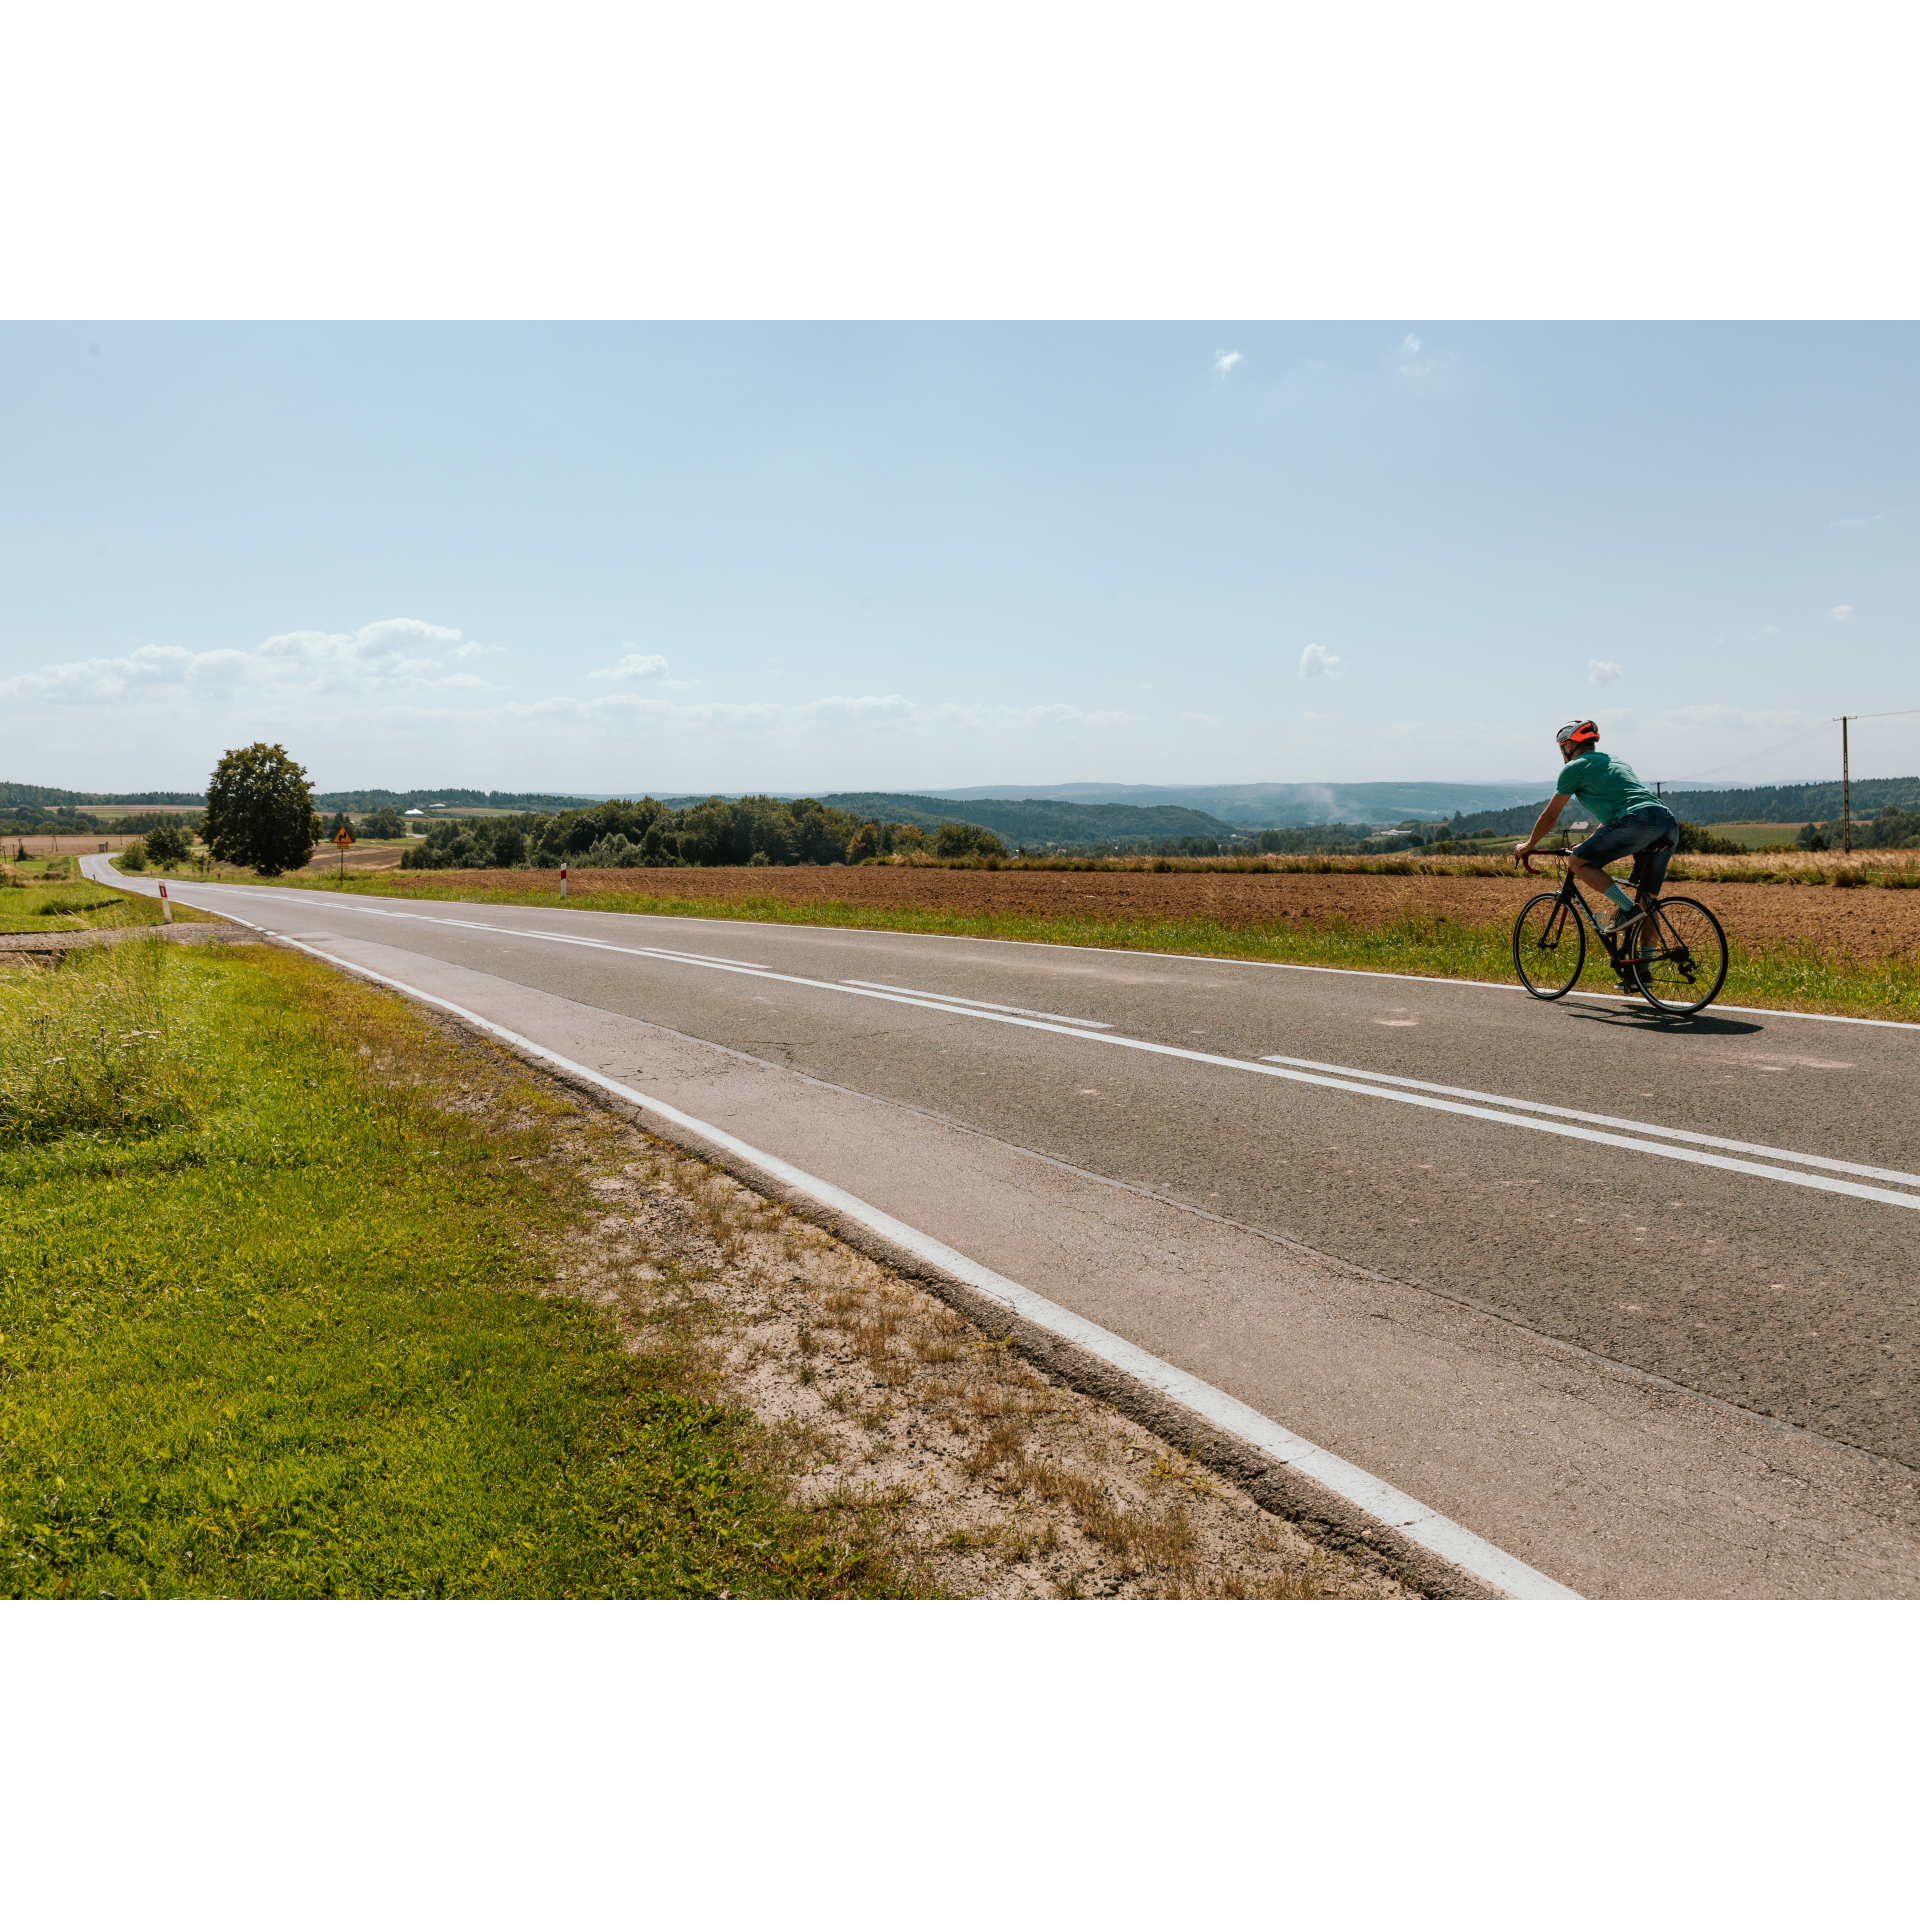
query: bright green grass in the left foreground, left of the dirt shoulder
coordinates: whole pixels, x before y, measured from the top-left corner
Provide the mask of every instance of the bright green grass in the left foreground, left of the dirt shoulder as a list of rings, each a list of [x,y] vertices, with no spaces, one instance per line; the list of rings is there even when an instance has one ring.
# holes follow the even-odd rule
[[[580,1121],[490,1058],[263,947],[0,975],[0,1592],[899,1590],[697,1344],[541,1286]]]

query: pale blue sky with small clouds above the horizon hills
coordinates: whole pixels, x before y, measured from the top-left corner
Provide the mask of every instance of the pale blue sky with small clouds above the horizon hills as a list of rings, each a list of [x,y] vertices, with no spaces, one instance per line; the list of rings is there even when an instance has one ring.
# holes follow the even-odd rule
[[[1716,778],[1920,707],[1905,324],[10,324],[0,778]],[[1857,774],[1920,770],[1866,724]],[[1837,743],[1728,783],[1828,778]]]

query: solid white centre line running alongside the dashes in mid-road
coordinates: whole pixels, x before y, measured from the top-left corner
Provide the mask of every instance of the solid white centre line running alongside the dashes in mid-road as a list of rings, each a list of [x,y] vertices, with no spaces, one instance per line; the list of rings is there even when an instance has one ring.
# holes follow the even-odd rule
[[[240,920],[238,914],[230,918]],[[246,920],[240,924],[252,925],[252,922]],[[451,920],[447,916],[430,916],[430,924],[467,929],[476,925],[476,922]],[[267,933],[273,929],[257,927],[255,931]],[[501,933],[513,939],[551,939],[551,935],[538,929],[522,931],[516,927],[480,927],[480,931]],[[275,937],[292,939],[292,935],[286,933],[276,933]],[[298,941],[294,945],[298,945]],[[1365,1079],[1346,1077],[1344,1068],[1334,1068],[1327,1073],[1308,1073],[1300,1068],[1275,1066],[1271,1060],[1240,1060],[1233,1054],[1208,1054],[1192,1046],[1167,1046],[1164,1041],[1140,1041],[1127,1033],[1096,1033],[1087,1027],[1064,1027],[1054,1023],[1050,1016],[1025,1018],[1020,1014],[991,1014],[979,1006],[958,1006],[947,1000],[912,998],[891,989],[854,987],[845,981],[816,979],[808,973],[774,973],[764,968],[749,970],[733,960],[710,960],[707,956],[680,952],[672,947],[614,947],[609,943],[607,950],[639,960],[674,960],[682,966],[710,968],[722,973],[737,973],[745,979],[778,981],[787,987],[812,987],[818,993],[847,993],[864,1000],[891,1000],[895,1006],[918,1006],[929,1014],[954,1014],[960,1020],[989,1020],[1002,1027],[1027,1027],[1033,1033],[1058,1033],[1064,1039],[1087,1041],[1094,1046],[1123,1046],[1129,1052],[1160,1054],[1169,1060],[1192,1060],[1198,1066],[1231,1068],[1238,1073],[1265,1073],[1273,1079],[1298,1081],[1304,1087],[1325,1087],[1331,1092],[1363,1094],[1373,1100],[1392,1100],[1398,1106],[1425,1106],[1436,1114],[1455,1114],[1463,1119],[1492,1121],[1501,1127],[1523,1127],[1528,1133],[1557,1133],[1569,1140],[1588,1140],[1596,1146],[1613,1146],[1626,1154],[1655,1154],[1661,1160],[1682,1160],[1695,1167],[1715,1167],[1722,1173],[1745,1173],[1749,1179],[1782,1181],[1789,1187],[1811,1187],[1820,1192],[1845,1194],[1853,1200],[1878,1200],[1880,1206],[1899,1206],[1920,1212],[1920,1194],[1887,1192],[1884,1187],[1860,1187],[1857,1181],[1839,1181],[1826,1173],[1795,1173],[1791,1167],[1755,1165],[1751,1160],[1728,1160],[1724,1154],[1705,1154],[1692,1146],[1667,1146],[1661,1140],[1630,1139],[1620,1133],[1599,1133],[1596,1127],[1574,1127],[1559,1119],[1534,1119],[1530,1114],[1501,1112],[1492,1106],[1465,1106],[1459,1100],[1442,1100],[1425,1092],[1402,1092],[1398,1087],[1382,1087]],[[1473,1098],[1480,1096],[1475,1094]],[[1741,1144],[1740,1150],[1766,1152],[1766,1148],[1753,1148],[1745,1144]]]

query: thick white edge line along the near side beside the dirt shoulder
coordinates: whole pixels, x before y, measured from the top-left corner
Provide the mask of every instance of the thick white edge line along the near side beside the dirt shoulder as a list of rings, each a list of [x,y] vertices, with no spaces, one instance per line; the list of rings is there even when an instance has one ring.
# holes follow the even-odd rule
[[[232,918],[240,920],[238,914]],[[1423,1505],[1411,1494],[1402,1494],[1400,1488],[1375,1478],[1375,1475],[1367,1473],[1363,1467],[1356,1467],[1338,1453],[1329,1453],[1311,1440],[1304,1440],[1300,1434],[1288,1432],[1277,1421],[1269,1421],[1265,1413],[1246,1405],[1244,1400],[1235,1400],[1231,1394],[1223,1394],[1217,1386],[1208,1386],[1206,1380],[1200,1380],[1190,1373],[1183,1373],[1179,1367],[1158,1359],[1154,1354],[1135,1346],[1131,1340],[1121,1340],[1119,1334],[1108,1332],[1104,1327],[1094,1325],[1094,1321],[1083,1319],[1079,1313],[1056,1306],[1044,1294],[1037,1294],[1021,1286],[1018,1281],[1010,1281],[1006,1275],[979,1265],[979,1261],[968,1260],[966,1254],[935,1240],[918,1227],[908,1227],[906,1221],[895,1219],[891,1213],[883,1213],[879,1208],[870,1206],[866,1200],[856,1198],[845,1188],[833,1187],[829,1181],[824,1181],[814,1173],[804,1173],[801,1167],[795,1167],[774,1154],[762,1152],[758,1146],[749,1146],[745,1140],[739,1140],[730,1133],[722,1133],[720,1127],[712,1127],[705,1119],[682,1114],[664,1100],[655,1100],[651,1094],[637,1092],[634,1087],[626,1087],[605,1073],[595,1073],[591,1068],[584,1068],[578,1060],[568,1060],[564,1054],[557,1054],[551,1048],[541,1046],[538,1041],[530,1041],[524,1033],[501,1027],[453,1000],[444,1000],[440,995],[409,987],[403,979],[376,973],[372,968],[340,958],[340,954],[328,954],[319,947],[307,947],[303,941],[296,941],[286,933],[273,933],[269,927],[255,927],[248,920],[240,920],[240,925],[250,927],[255,933],[271,933],[273,939],[282,941],[303,954],[311,954],[326,966],[344,968],[346,972],[359,973],[365,979],[374,979],[382,987],[392,987],[396,993],[407,995],[411,1000],[420,1000],[426,1006],[438,1006],[442,1012],[453,1014],[470,1027],[478,1027],[484,1033],[492,1033],[495,1039],[505,1041],[516,1052],[530,1054],[536,1060],[545,1060],[547,1066],[559,1068],[574,1079],[588,1081],[603,1092],[611,1092],[647,1114],[655,1114],[674,1127],[684,1127],[697,1139],[710,1140],[714,1146],[739,1156],[749,1165],[758,1167],[762,1173],[770,1173],[774,1179],[793,1187],[797,1192],[808,1194],[810,1198],[860,1221],[860,1225],[870,1233],[877,1233],[904,1252],[925,1260],[943,1273],[950,1273],[962,1284],[987,1294],[989,1300],[1000,1302],[1000,1306],[1008,1308],[1008,1311],[1018,1313],[1035,1327],[1044,1327],[1062,1340],[1071,1340],[1075,1346],[1085,1348],[1098,1359],[1104,1359],[1110,1367],[1117,1367],[1129,1379],[1165,1394],[1167,1400],[1173,1400],[1190,1413],[1198,1413],[1202,1419],[1212,1421],[1236,1440],[1246,1440],[1250,1446],[1260,1448],[1281,1465],[1292,1467],[1317,1486],[1325,1486],[1331,1494],[1338,1494],[1342,1500],[1359,1507],[1384,1526],[1392,1526],[1394,1532],[1419,1542],[1419,1546],[1423,1546],[1428,1553],[1436,1553],[1440,1559],[1471,1572],[1475,1578],[1484,1580],[1509,1599],[1582,1597],[1571,1586],[1561,1586],[1559,1580],[1549,1578],[1536,1567],[1528,1567],[1523,1559],[1515,1559],[1503,1548],[1496,1548],[1492,1540],[1482,1540],[1478,1534],[1469,1532],[1455,1521],[1446,1519],[1446,1515],[1434,1513],[1432,1507]]]

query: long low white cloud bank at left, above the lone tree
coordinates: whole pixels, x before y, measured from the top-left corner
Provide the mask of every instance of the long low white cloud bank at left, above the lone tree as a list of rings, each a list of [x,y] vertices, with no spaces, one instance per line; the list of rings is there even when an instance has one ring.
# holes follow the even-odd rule
[[[238,647],[134,647],[111,659],[67,660],[0,680],[0,699],[40,699],[60,707],[111,707],[175,691],[196,699],[248,689],[305,699],[367,699],[420,689],[503,691],[476,674],[449,672],[451,660],[484,651],[461,643],[453,626],[426,620],[374,620],[353,634],[275,634],[252,651]]]

